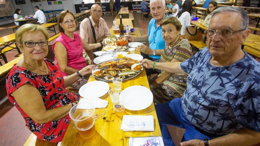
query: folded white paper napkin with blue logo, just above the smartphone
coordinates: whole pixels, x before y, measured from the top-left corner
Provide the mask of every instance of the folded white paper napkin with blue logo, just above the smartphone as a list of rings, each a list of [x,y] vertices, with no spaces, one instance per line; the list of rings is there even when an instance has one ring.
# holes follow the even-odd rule
[[[153,116],[124,115],[123,131],[154,131]]]

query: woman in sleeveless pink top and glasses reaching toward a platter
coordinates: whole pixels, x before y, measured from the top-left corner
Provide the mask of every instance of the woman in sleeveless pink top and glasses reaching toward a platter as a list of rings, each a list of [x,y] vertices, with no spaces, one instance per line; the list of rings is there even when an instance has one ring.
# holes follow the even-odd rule
[[[61,35],[53,42],[52,50],[55,54],[55,61],[61,76],[69,76],[87,66],[87,61],[83,57],[84,50],[94,50],[105,45],[105,41],[96,44],[88,44],[77,33],[74,15],[69,11],[62,11],[58,17],[59,31]],[[85,78],[78,79],[69,88],[79,90],[87,83]]]

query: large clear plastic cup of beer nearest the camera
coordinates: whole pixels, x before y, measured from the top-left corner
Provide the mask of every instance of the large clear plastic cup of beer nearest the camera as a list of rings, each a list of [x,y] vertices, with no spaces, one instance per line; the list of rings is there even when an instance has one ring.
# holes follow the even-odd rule
[[[95,108],[90,102],[82,102],[73,106],[69,111],[79,134],[84,139],[95,135]]]

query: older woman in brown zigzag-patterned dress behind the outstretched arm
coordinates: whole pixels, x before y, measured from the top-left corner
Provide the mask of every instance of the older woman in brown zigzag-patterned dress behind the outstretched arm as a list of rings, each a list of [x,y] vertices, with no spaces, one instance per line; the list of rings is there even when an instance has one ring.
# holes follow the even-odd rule
[[[158,50],[161,54],[160,62],[183,62],[192,56],[191,46],[188,40],[180,37],[181,22],[176,17],[164,19],[160,24],[163,39],[165,40],[164,50]],[[179,98],[183,95],[187,85],[188,74],[177,74],[161,72],[150,80],[150,88],[154,101],[157,104]]]

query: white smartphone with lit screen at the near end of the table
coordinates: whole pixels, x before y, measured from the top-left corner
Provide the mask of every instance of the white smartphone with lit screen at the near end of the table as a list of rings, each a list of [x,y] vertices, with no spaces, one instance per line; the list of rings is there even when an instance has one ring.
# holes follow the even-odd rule
[[[129,146],[164,146],[163,137],[130,137]]]

